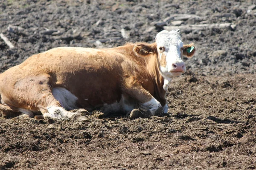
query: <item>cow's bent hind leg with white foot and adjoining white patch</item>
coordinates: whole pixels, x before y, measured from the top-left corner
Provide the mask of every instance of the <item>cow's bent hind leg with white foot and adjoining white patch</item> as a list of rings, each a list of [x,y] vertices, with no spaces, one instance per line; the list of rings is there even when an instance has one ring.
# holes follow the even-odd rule
[[[85,115],[83,112],[65,110],[65,106],[69,110],[76,108],[76,101],[73,100],[75,98],[68,99],[71,94],[69,91],[64,88],[56,88],[56,90],[52,88],[52,84],[48,74],[28,77],[16,83],[17,98],[23,101],[22,103],[26,103],[22,108],[34,112],[41,111],[44,118],[50,119],[71,119]]]

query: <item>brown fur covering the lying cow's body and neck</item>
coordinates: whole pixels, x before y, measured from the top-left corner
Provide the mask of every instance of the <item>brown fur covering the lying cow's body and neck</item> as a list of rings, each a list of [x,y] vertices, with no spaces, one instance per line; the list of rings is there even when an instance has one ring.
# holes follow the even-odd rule
[[[52,88],[66,88],[78,107],[92,111],[127,94],[140,103],[153,97],[166,104],[156,44],[128,43],[109,49],[54,48],[35,54],[0,74],[1,111],[44,113],[61,106]],[[11,78],[10,78],[11,77]],[[87,99],[87,100],[85,100]]]

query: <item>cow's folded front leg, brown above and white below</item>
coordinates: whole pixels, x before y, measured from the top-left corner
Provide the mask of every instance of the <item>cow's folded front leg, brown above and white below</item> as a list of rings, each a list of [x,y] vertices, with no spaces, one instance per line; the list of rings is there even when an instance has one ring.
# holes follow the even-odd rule
[[[140,108],[134,109],[128,115],[130,118],[160,116],[163,113],[163,108],[160,102],[157,101],[148,91],[141,86],[133,86],[124,89],[126,94],[136,99]]]

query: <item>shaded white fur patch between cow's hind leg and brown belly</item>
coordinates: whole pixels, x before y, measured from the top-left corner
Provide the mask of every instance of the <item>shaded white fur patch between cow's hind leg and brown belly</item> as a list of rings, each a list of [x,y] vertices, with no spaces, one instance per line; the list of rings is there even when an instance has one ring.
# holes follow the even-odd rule
[[[57,87],[52,89],[52,94],[67,110],[77,109],[76,102],[78,98],[65,88]]]

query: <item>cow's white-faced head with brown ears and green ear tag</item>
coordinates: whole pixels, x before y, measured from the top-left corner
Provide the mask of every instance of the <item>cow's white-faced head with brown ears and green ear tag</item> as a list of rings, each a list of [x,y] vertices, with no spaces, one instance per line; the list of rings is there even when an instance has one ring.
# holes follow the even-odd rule
[[[157,34],[153,46],[140,44],[134,47],[134,51],[142,56],[156,53],[160,63],[160,72],[166,79],[185,73],[186,66],[181,57],[182,55],[192,57],[195,53],[194,43],[183,45],[179,30],[161,31]]]

